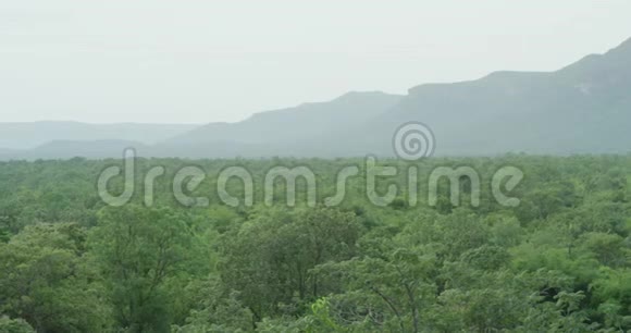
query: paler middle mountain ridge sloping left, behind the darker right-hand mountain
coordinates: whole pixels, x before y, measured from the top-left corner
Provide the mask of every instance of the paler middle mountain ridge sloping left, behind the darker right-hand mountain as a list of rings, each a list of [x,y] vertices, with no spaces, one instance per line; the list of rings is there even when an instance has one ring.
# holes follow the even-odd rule
[[[154,156],[267,157],[314,153],[309,147],[327,133],[366,125],[396,106],[403,96],[348,92],[327,102],[253,114],[238,123],[211,123],[157,147]],[[307,149],[307,150],[305,150]]]

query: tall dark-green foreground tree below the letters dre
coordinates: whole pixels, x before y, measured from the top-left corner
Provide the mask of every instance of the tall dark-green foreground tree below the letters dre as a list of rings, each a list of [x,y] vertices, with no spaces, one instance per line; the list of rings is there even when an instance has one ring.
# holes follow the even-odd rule
[[[129,332],[168,332],[173,299],[164,288],[187,259],[190,235],[170,209],[104,208],[90,234],[116,320]]]

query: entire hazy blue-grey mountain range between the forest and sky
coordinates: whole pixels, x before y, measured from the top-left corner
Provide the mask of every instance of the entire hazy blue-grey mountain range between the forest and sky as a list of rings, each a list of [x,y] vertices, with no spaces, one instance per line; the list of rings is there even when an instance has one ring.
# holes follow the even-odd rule
[[[101,128],[92,136],[67,132],[62,139],[75,143],[0,150],[0,158],[120,157],[125,145],[153,157],[392,156],[393,134],[410,121],[432,130],[438,156],[629,152],[631,39],[555,72],[495,72],[469,82],[420,85],[406,96],[349,92],[195,128],[111,125],[110,132]],[[10,124],[0,124],[0,144],[22,140],[22,147],[5,147],[25,148],[26,143],[60,139],[46,138],[46,124],[34,124],[13,132]]]

